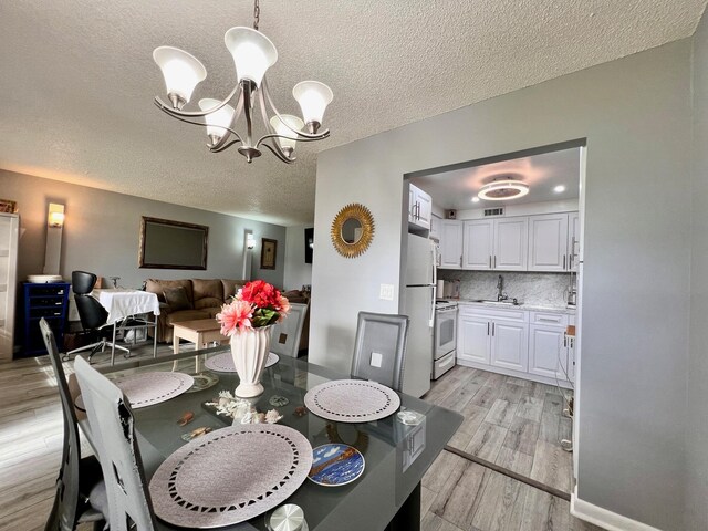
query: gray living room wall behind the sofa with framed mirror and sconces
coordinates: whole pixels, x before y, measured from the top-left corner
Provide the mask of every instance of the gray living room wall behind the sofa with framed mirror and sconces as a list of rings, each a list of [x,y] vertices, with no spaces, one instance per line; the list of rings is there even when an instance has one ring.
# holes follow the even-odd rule
[[[0,169],[0,197],[18,201],[21,217],[19,274],[42,272],[46,239],[46,206],[50,201],[66,206],[60,274],[71,279],[73,270],[86,270],[100,277],[121,277],[126,288],[139,288],[147,278],[189,279],[242,277],[243,230],[256,237],[252,278],[275,285],[283,283],[285,228],[169,205],[138,197],[114,194],[85,186]],[[140,217],[186,221],[209,227],[207,270],[139,269],[137,266]],[[275,270],[260,269],[261,238],[278,240]]]

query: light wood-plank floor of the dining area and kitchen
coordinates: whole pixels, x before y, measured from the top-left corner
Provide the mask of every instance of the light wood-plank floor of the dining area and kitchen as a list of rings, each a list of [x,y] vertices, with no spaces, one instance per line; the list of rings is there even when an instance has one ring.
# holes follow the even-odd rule
[[[170,353],[171,346],[159,346],[159,355]],[[95,357],[98,364],[103,360],[105,355]],[[71,364],[64,368],[71,373]],[[570,465],[562,465],[561,457],[570,457],[555,454],[556,435],[566,429],[560,426],[560,395],[548,386],[465,367],[446,376],[426,398],[466,415],[451,445],[543,482],[563,485],[560,470]],[[523,420],[534,424],[527,426]],[[44,529],[54,497],[62,429],[49,361],[0,364],[0,531]],[[86,444],[82,447],[85,455],[91,452]],[[421,514],[425,531],[597,529],[571,518],[568,502],[447,451],[424,478]]]

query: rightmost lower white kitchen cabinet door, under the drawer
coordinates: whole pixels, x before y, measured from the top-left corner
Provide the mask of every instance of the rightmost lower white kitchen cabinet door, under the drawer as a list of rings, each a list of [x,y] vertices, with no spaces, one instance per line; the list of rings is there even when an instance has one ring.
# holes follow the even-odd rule
[[[565,327],[532,324],[529,330],[529,373],[564,381],[566,344]]]

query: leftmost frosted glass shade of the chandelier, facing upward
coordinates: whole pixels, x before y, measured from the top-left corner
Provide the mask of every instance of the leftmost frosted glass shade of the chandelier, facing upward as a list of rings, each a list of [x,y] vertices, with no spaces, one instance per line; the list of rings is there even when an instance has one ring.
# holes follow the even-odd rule
[[[163,71],[167,96],[174,106],[181,108],[189,103],[199,82],[207,77],[207,69],[190,53],[173,46],[156,48],[153,59]]]

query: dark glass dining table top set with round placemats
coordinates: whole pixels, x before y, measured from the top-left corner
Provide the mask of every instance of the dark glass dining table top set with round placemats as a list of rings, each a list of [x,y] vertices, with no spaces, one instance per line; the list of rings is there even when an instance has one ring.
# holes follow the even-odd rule
[[[110,378],[173,369],[194,376],[195,356],[204,361],[225,352],[229,352],[228,345],[183,352],[163,360],[134,358],[101,372]],[[175,360],[179,363],[174,364],[174,367]],[[232,424],[230,417],[217,415],[216,408],[207,403],[218,400],[221,391],[233,393],[239,383],[236,373],[202,368],[198,374],[200,376],[196,378],[197,385],[190,392],[133,412],[148,481],[168,456],[187,444],[183,439],[185,434],[204,427],[217,430]],[[348,377],[287,356],[280,356],[278,363],[263,371],[261,383],[266,391],[259,397],[250,399],[258,412],[278,409],[283,416],[278,424],[303,434],[312,448],[343,442],[358,449],[365,459],[364,472],[355,481],[325,487],[308,479],[285,503],[295,503],[302,508],[306,529],[310,531],[419,530],[420,480],[455,434],[462,417],[458,413],[405,394],[399,394],[399,410],[409,412],[408,418],[404,418],[405,423],[397,414],[369,423],[334,423],[306,410],[304,396],[309,389],[325,382]],[[287,404],[272,405],[283,402]],[[178,420],[187,413],[194,414],[194,418],[181,426]],[[253,451],[258,452],[259,449],[253,448]],[[233,481],[238,480],[238,473],[235,473]],[[269,530],[271,512],[218,529]],[[189,529],[170,528],[163,521],[160,525],[165,529]]]

